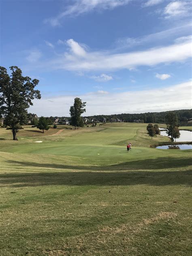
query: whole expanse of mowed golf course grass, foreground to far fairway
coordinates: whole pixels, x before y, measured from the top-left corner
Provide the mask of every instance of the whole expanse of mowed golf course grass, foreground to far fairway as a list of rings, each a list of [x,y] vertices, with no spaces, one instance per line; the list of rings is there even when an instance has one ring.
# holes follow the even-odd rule
[[[191,255],[191,150],[146,124],[31,130],[0,129],[0,255]]]

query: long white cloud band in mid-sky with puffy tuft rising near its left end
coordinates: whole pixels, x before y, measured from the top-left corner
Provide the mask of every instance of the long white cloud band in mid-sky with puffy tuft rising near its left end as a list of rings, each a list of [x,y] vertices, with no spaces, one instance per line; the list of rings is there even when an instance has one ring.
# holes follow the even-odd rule
[[[181,62],[192,56],[192,44],[184,41],[165,47],[156,47],[145,51],[111,54],[109,52],[85,51],[73,39],[67,41],[70,51],[61,54],[58,58],[46,62],[52,68],[73,71],[109,71],[132,69],[138,66],[154,66],[162,63]],[[43,64],[41,63],[40,66]]]

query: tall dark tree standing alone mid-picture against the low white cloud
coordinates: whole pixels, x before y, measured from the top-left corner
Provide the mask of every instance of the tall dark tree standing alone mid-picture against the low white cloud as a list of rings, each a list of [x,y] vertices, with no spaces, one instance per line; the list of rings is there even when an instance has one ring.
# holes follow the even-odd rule
[[[75,98],[73,106],[70,107],[71,125],[75,127],[84,126],[81,114],[86,111],[85,104],[86,102],[82,102],[80,98]]]

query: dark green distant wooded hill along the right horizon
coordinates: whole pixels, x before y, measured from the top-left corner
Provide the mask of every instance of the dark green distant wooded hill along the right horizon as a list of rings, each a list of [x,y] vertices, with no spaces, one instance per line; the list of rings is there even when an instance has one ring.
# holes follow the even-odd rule
[[[115,115],[92,115],[85,116],[88,119],[94,118],[101,120],[103,117],[110,121],[111,118],[123,120],[124,122],[135,122],[140,120],[143,123],[165,123],[165,117],[168,112],[174,112],[179,117],[180,122],[188,122],[192,118],[192,109],[181,109],[174,111],[164,111],[164,112],[147,112],[141,114],[115,114]]]

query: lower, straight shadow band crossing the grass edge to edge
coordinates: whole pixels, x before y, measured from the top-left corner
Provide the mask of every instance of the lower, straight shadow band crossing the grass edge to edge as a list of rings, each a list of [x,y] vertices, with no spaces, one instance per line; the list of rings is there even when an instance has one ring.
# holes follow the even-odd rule
[[[18,173],[1,175],[2,185],[36,186],[151,186],[191,185],[190,171],[60,172]]]

